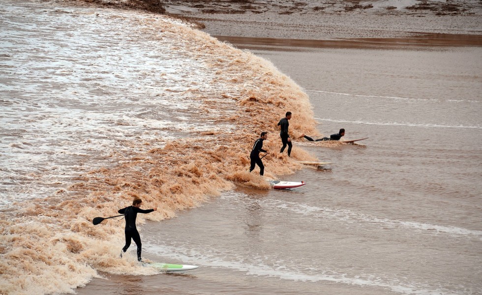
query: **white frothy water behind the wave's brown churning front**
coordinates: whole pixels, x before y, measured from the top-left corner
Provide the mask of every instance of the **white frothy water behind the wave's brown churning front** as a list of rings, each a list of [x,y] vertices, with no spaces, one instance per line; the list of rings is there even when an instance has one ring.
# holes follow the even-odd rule
[[[221,101],[219,93],[238,90],[216,79],[188,38],[165,29],[182,21],[0,3],[0,206],[65,192],[69,178],[116,164],[113,155],[133,147],[142,152],[150,142],[162,148],[190,132],[235,128],[209,122],[236,110],[198,118],[201,97]]]

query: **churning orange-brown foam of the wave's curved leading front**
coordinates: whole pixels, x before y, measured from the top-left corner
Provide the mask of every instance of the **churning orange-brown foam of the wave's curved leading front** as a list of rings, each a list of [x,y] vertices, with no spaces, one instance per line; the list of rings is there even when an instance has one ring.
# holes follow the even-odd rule
[[[143,200],[140,214],[161,221],[178,210],[192,208],[236,185],[269,189],[259,170],[248,172],[249,151],[262,131],[268,131],[263,159],[265,177],[293,173],[296,160],[314,160],[294,146],[292,157],[279,153],[278,120],[293,113],[290,132],[316,135],[308,96],[270,62],[235,49],[208,34],[186,26],[146,19],[143,34],[164,31],[173,39],[172,50],[186,59],[203,59],[215,74],[212,91],[187,90],[176,95],[202,102],[194,118],[212,130],[192,131],[187,137],[165,142],[129,141],[129,154],[112,153],[118,165],[92,170],[75,179],[66,190],[33,202],[15,204],[17,211],[0,212],[1,294],[62,293],[87,284],[97,271],[149,274],[135,258],[118,255],[123,245],[123,221],[108,219],[94,226],[96,216],[118,215],[117,210]],[[145,147],[149,147],[148,151]],[[143,147],[143,148],[140,148]]]

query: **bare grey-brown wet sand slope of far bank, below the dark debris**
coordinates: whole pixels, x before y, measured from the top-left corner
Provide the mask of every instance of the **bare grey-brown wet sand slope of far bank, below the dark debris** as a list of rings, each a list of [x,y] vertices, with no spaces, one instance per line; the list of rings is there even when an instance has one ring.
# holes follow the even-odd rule
[[[323,1],[317,5],[309,1],[285,5],[271,1],[229,5],[221,2],[202,1],[194,5],[167,1],[164,5],[166,14],[193,21],[217,39],[242,49],[266,50],[274,46],[272,50],[283,51],[290,50],[289,47],[419,50],[431,46],[482,46],[482,18],[479,16],[482,5],[468,2],[459,4],[468,5],[465,10],[475,7],[473,14],[443,16],[426,9],[417,13],[403,8],[371,9],[363,13],[349,9],[316,9],[318,4],[327,4]],[[339,4],[356,4],[356,1],[342,2]],[[246,9],[246,5],[258,8]],[[440,9],[449,9],[444,7]],[[290,10],[291,13],[284,13]]]

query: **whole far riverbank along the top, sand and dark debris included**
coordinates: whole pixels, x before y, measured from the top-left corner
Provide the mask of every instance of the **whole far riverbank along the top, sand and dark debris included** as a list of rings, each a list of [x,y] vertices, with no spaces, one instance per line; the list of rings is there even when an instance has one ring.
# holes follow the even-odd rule
[[[330,42],[315,44],[314,40],[346,42],[347,39],[358,44],[348,42],[342,47],[376,47],[384,43],[396,46],[480,46],[482,43],[481,37],[477,37],[482,35],[482,3],[475,0],[324,0],[316,4],[310,1],[280,4],[271,0],[67,2],[171,15],[234,44],[261,42],[266,43],[263,45],[285,46],[289,43],[288,46],[332,47]],[[233,37],[253,40],[235,40]],[[340,43],[335,45],[339,46]]]

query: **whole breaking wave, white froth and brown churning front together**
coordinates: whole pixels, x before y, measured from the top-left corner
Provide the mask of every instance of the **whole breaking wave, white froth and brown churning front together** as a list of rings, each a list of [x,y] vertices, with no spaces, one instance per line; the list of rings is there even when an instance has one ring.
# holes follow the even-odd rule
[[[270,62],[180,21],[140,12],[1,0],[0,290],[73,292],[119,260],[121,222],[143,199],[160,221],[230,190],[261,131],[313,132],[308,96]],[[22,13],[18,13],[21,11]],[[265,148],[279,147],[274,140]],[[301,148],[293,156],[308,159]],[[276,161],[275,161],[276,160]],[[291,172],[268,155],[268,177]],[[33,274],[33,275],[32,275]],[[52,282],[56,282],[53,284]]]

